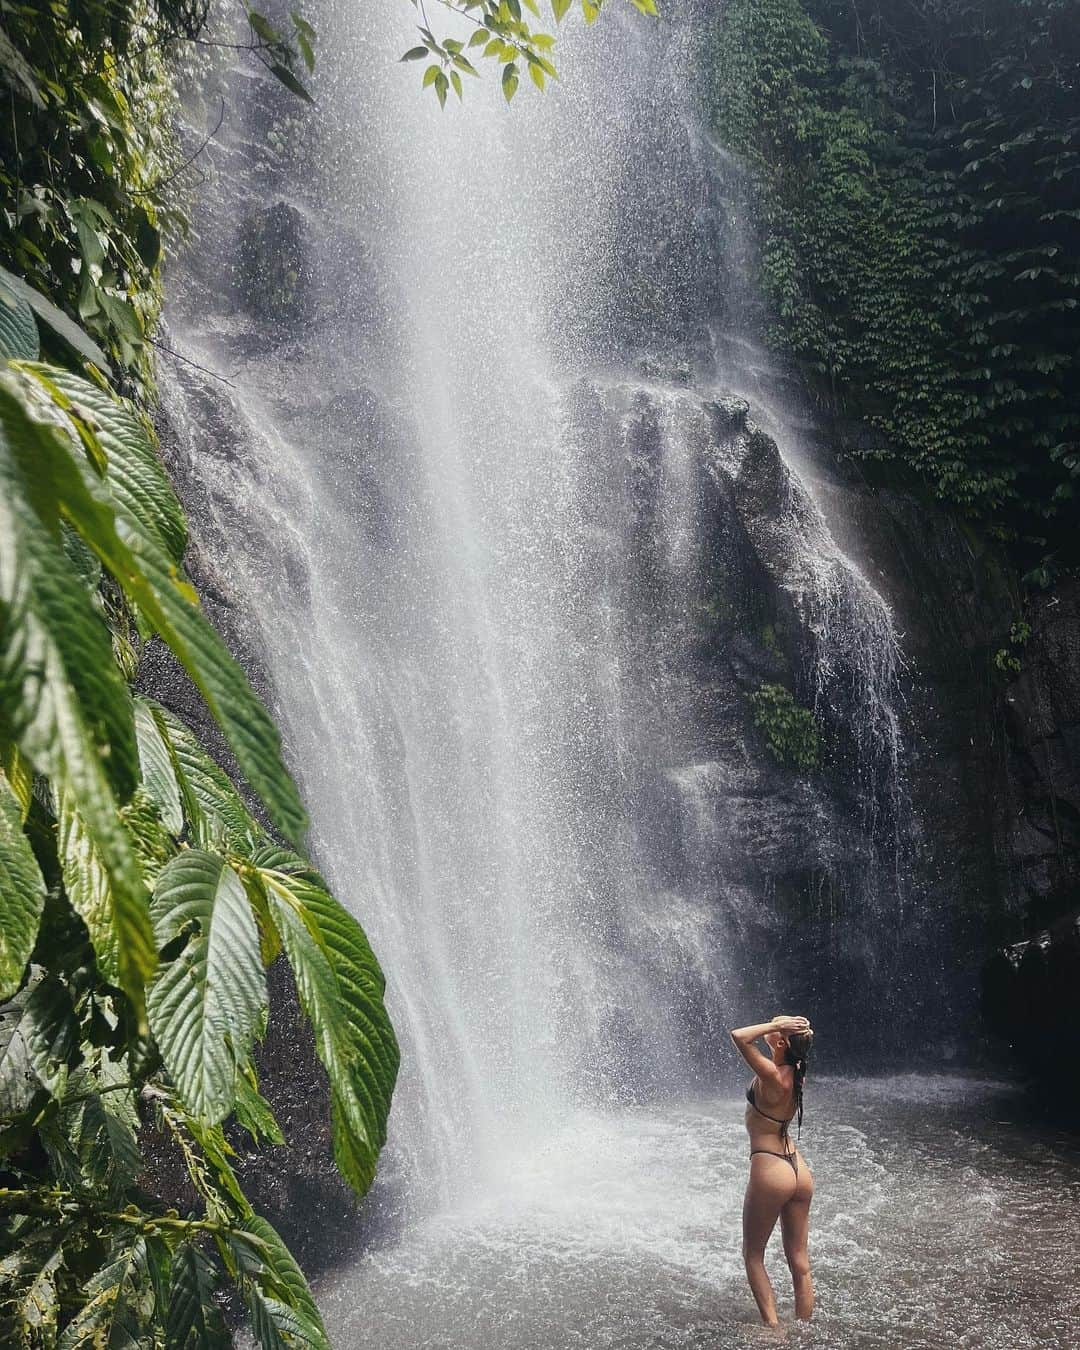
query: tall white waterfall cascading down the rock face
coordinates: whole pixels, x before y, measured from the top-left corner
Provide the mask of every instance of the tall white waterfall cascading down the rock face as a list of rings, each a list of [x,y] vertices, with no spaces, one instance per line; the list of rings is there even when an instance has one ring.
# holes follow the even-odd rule
[[[170,333],[234,387],[166,371],[171,455],[387,972],[383,1173],[416,1223],[495,1207],[344,1285],[344,1343],[566,1345],[528,1300],[470,1330],[468,1293],[423,1339],[396,1291],[475,1292],[463,1242],[513,1300],[556,1231],[556,1301],[566,1261],[617,1253],[578,1288],[629,1291],[613,1324],[643,1270],[729,1278],[737,1238],[701,1234],[741,1125],[664,1103],[707,1091],[732,1018],[802,996],[842,1034],[902,979],[898,640],[738,329],[745,225],[721,228],[686,93],[693,16],[571,22],[547,97],[505,109],[489,81],[441,113],[396,63],[408,5],[312,18],[315,115],[223,76],[217,209]],[[770,757],[764,680],[817,709],[832,779]]]

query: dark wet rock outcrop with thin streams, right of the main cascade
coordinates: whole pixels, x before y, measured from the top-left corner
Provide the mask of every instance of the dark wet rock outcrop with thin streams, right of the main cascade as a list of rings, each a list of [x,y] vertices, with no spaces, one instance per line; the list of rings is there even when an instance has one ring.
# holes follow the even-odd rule
[[[716,1019],[751,1015],[740,999],[813,1007],[834,1048],[871,1053],[894,1003],[932,1025],[950,990],[938,914],[896,922],[910,819],[887,606],[745,400],[652,377],[582,382],[572,423],[605,501],[580,585],[616,616],[626,659],[659,672],[625,709],[633,745],[617,771],[653,822],[643,887],[671,921],[652,963],[680,991],[693,1053],[722,1071]],[[609,536],[632,540],[622,574]],[[763,686],[813,710],[811,768],[770,749]],[[694,925],[672,918],[683,910],[717,934],[703,971]],[[932,977],[907,988],[915,969]]]

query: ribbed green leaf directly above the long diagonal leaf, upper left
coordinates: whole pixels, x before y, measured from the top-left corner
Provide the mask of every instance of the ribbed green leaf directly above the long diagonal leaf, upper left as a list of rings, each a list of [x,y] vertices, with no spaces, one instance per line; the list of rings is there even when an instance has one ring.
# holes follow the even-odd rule
[[[57,366],[30,366],[27,370],[69,416],[77,418],[84,439],[90,436],[94,448],[100,447],[116,510],[180,564],[188,545],[184,508],[154,448],[153,435],[135,409],[69,370]]]

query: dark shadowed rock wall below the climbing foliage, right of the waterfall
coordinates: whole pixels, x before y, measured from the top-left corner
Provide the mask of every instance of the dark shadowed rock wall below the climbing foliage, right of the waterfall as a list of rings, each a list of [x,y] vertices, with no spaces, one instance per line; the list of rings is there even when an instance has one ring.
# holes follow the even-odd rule
[[[848,541],[905,634],[923,903],[986,1031],[1041,1073],[1080,987],[1080,580],[1025,591],[984,531],[837,459],[857,433],[821,429],[819,460],[834,528],[861,522]]]

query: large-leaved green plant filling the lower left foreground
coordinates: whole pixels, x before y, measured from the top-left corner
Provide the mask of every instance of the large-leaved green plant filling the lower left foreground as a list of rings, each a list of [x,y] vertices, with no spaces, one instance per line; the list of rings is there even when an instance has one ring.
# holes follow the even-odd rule
[[[61,68],[78,97],[92,66]],[[36,112],[74,107],[59,82],[35,96],[30,59],[8,73]],[[50,192],[65,200],[62,173]],[[74,236],[54,224],[35,238],[70,259]],[[34,263],[27,239],[4,256]],[[246,1200],[223,1125],[282,1142],[251,1053],[265,967],[284,952],[327,1066],[335,1156],[363,1193],[398,1065],[382,973],[192,730],[131,691],[158,634],[266,817],[300,842],[277,730],[184,574],[186,521],[150,424],[103,374],[36,359],[40,335],[100,373],[116,363],[144,398],[142,346],[99,325],[107,359],[58,308],[77,309],[70,269],[39,251],[45,265],[26,266],[53,298],[0,269],[0,1339],[225,1345],[216,1300],[231,1282],[259,1345],[321,1347],[304,1277]],[[123,285],[150,294],[132,301],[150,315],[154,269]],[[189,1214],[138,1184],[148,1118],[185,1161]]]

